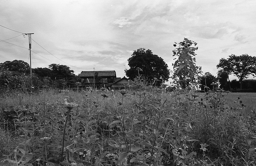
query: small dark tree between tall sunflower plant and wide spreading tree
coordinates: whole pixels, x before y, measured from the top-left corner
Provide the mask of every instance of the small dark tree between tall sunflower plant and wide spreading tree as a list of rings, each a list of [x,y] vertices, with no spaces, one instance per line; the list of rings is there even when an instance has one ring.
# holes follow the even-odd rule
[[[213,76],[210,72],[206,72],[204,76],[200,76],[200,84],[201,84],[201,90],[205,90],[208,92],[208,88],[212,88],[212,84],[217,84],[218,79]],[[207,88],[208,87],[208,88]],[[215,86],[216,87],[216,86]]]

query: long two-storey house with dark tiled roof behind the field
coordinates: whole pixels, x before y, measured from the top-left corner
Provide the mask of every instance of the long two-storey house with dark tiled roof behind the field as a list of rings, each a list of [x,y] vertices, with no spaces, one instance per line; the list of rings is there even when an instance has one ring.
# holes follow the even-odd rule
[[[80,78],[85,86],[110,86],[116,81],[116,71],[82,71]]]

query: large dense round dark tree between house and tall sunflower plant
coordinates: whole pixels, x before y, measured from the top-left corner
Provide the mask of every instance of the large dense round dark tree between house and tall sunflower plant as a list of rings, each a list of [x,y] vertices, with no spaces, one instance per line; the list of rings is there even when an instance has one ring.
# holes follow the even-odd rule
[[[126,76],[134,80],[137,76],[144,76],[150,84],[153,82],[160,86],[163,82],[168,81],[170,72],[168,65],[164,60],[145,48],[134,50],[132,57],[128,59],[129,70],[125,70]]]

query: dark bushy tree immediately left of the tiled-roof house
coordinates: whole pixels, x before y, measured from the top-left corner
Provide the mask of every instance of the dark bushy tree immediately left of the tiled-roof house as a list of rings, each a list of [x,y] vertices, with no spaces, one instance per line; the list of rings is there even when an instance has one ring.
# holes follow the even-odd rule
[[[72,80],[75,76],[74,71],[70,70],[70,68],[66,65],[50,64],[49,68],[52,70],[52,80]]]

